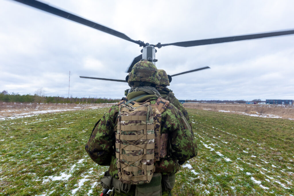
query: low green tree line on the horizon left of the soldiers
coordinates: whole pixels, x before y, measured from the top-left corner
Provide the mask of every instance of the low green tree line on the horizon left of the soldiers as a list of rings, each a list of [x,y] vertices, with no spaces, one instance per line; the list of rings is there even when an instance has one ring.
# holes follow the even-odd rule
[[[108,98],[65,98],[59,96],[40,96],[38,94],[20,95],[19,93],[7,93],[2,91],[0,93],[0,101],[2,102],[19,102],[19,103],[117,103],[120,99]]]

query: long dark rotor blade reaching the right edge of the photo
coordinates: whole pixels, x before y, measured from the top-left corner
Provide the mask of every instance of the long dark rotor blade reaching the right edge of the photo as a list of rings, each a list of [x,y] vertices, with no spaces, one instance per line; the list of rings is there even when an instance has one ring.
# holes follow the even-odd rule
[[[156,46],[157,47],[162,47],[162,46],[190,47],[190,46],[201,46],[201,45],[208,45],[208,44],[215,44],[215,43],[225,43],[225,42],[241,41],[241,40],[248,40],[248,39],[259,39],[259,38],[265,38],[265,37],[283,36],[283,35],[291,35],[291,34],[294,34],[294,30],[275,31],[275,32],[269,32],[269,33],[257,33],[257,34],[250,34],[250,35],[220,37],[220,38],[211,38],[211,39],[201,39],[201,40],[194,40],[194,41],[182,41],[182,42],[166,43],[166,44],[159,43]]]

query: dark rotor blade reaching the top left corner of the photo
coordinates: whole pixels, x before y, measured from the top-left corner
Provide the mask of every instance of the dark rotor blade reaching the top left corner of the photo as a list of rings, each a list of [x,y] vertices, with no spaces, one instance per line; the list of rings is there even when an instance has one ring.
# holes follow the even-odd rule
[[[119,31],[110,29],[110,28],[108,28],[106,26],[103,26],[101,24],[98,24],[98,23],[89,21],[89,20],[84,19],[84,18],[81,18],[79,16],[76,16],[76,15],[71,14],[69,12],[63,11],[61,9],[57,9],[55,7],[49,6],[48,4],[44,4],[44,3],[40,2],[40,1],[36,1],[36,0],[13,0],[13,1],[17,1],[19,3],[23,3],[23,4],[26,4],[28,6],[31,6],[31,7],[34,7],[34,8],[37,8],[37,9],[40,9],[40,10],[49,12],[51,14],[54,14],[54,15],[57,15],[57,16],[61,16],[61,17],[65,18],[65,19],[69,19],[71,21],[75,21],[77,23],[80,23],[80,24],[89,26],[89,27],[94,28],[94,29],[97,29],[99,31],[103,31],[105,33],[114,35],[116,37],[125,39],[127,41],[131,41],[133,43],[137,43],[140,46],[143,46],[144,45],[144,42],[142,42],[140,40],[139,41],[135,41],[135,40],[129,38],[128,36],[126,36],[125,34],[119,32]]]

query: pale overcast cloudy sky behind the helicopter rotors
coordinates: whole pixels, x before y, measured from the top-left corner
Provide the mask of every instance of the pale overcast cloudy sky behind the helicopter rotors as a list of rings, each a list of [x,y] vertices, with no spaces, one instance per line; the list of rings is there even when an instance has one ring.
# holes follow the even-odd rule
[[[294,29],[294,1],[98,1],[44,3],[156,44]],[[121,98],[141,48],[11,0],[0,1],[0,91]],[[157,48],[158,69],[178,99],[294,99],[294,35],[206,46]]]

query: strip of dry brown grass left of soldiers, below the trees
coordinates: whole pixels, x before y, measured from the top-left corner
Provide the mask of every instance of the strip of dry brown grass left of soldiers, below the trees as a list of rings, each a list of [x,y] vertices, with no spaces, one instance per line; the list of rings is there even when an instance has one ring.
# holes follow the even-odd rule
[[[114,104],[114,103],[111,103]],[[9,116],[30,115],[36,113],[63,112],[66,110],[83,110],[108,107],[107,103],[75,104],[75,103],[3,103],[0,102],[0,118]]]

